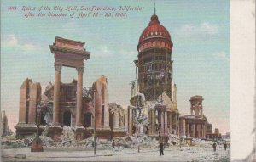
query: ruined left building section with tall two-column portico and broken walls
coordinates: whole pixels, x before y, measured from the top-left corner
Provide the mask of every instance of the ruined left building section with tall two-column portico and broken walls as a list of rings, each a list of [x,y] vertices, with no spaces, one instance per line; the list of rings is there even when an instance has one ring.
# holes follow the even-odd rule
[[[55,56],[55,84],[50,82],[41,95],[40,83],[29,79],[23,82],[20,87],[19,123],[15,126],[17,137],[36,133],[37,124],[40,125],[40,133],[49,129],[50,137],[60,137],[63,126],[71,126],[76,139],[92,137],[94,126],[97,137],[125,136],[124,129],[116,133],[110,126],[116,119],[109,116],[107,78],[101,76],[92,87],[83,88],[84,60],[90,58],[90,52],[84,49],[84,42],[55,37],[55,43],[49,47]],[[62,66],[76,68],[77,80],[62,83]],[[120,117],[124,115],[121,110],[119,114]],[[114,126],[119,127],[123,128]]]

